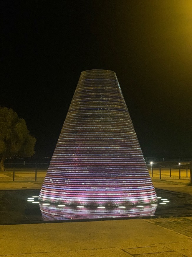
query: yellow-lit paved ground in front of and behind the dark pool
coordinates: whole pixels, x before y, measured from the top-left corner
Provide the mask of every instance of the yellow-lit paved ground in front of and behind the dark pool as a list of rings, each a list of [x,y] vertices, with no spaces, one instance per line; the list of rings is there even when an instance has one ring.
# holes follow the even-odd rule
[[[192,195],[188,178],[177,180],[155,177],[153,184]],[[1,177],[0,188],[40,189],[42,182]],[[192,257],[192,217],[0,225],[0,257],[5,256]]]

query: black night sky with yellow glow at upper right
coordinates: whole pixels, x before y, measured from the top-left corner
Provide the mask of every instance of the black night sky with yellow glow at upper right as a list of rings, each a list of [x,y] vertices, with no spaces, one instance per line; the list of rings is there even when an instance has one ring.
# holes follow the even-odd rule
[[[192,1],[1,1],[0,105],[52,156],[81,71],[115,71],[145,157],[192,156]]]

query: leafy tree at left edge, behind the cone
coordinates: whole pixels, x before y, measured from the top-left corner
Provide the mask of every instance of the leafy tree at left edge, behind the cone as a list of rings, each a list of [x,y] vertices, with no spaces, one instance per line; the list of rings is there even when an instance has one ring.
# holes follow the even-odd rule
[[[18,154],[30,157],[34,154],[36,139],[29,133],[24,119],[12,109],[0,107],[0,168],[6,171],[4,161]]]

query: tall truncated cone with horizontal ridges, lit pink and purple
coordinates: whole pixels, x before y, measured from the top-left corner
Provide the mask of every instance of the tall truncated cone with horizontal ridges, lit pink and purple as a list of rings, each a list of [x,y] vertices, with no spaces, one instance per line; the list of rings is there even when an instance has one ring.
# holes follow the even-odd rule
[[[81,73],[39,200],[83,206],[157,201],[115,72]]]

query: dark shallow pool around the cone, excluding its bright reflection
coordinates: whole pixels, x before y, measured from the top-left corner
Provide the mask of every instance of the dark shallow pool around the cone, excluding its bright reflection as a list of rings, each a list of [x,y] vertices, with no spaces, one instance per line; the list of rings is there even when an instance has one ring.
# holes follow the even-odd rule
[[[167,199],[169,202],[166,204],[160,204],[163,202],[159,199],[159,204],[156,206],[155,215],[150,217],[144,217],[140,215],[138,218],[158,218],[158,217],[184,217],[192,216],[192,201],[191,195],[186,193],[178,193],[172,191],[166,191],[156,189],[158,197],[161,199]],[[66,222],[66,221],[82,221],[85,217],[80,219],[59,218],[58,220],[45,219],[42,216],[42,212],[39,208],[39,204],[34,204],[27,201],[32,196],[38,196],[39,190],[2,190],[0,191],[0,224],[26,224],[26,223],[44,223],[44,222]],[[46,210],[46,209],[45,209]],[[104,211],[103,211],[104,212]],[[107,216],[105,216],[107,217]],[[131,217],[131,216],[130,216]],[[114,216],[115,219],[128,219],[123,215],[120,217]],[[132,217],[133,218],[133,217]],[[134,217],[137,218],[137,217]],[[107,218],[105,218],[107,219]],[[108,218],[112,219],[112,217]],[[98,220],[98,219],[87,219]],[[99,219],[101,220],[101,219]]]

